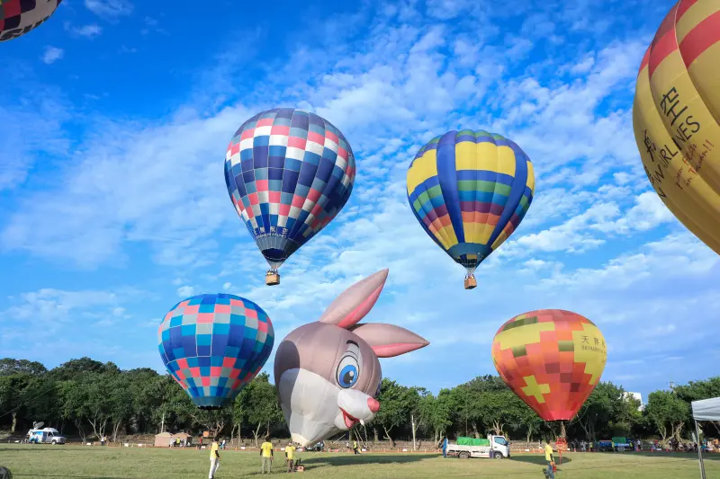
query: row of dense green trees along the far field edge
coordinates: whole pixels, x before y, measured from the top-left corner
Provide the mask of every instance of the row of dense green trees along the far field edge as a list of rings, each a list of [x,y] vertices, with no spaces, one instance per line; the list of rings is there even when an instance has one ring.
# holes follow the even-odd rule
[[[501,434],[529,443],[539,437],[599,440],[616,436],[688,438],[694,427],[690,402],[720,396],[720,377],[655,391],[641,410],[622,386],[600,382],[572,421],[545,422],[497,376],[473,380],[433,395],[419,386],[383,378],[374,421],[353,430],[363,443]],[[43,421],[82,441],[107,435],[209,431],[257,442],[265,435],[289,437],[275,385],[258,375],[220,411],[197,409],[169,375],[150,368],[121,370],[112,362],[71,359],[48,370],[27,359],[0,359],[0,429],[23,434]],[[703,424],[708,437],[720,423]]]

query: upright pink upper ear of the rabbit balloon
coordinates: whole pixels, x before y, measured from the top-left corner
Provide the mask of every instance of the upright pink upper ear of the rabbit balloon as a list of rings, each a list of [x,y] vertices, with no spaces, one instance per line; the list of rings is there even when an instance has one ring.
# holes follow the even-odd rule
[[[388,271],[383,270],[356,282],[335,298],[318,321],[335,324],[341,328],[356,324],[373,309],[387,278]]]

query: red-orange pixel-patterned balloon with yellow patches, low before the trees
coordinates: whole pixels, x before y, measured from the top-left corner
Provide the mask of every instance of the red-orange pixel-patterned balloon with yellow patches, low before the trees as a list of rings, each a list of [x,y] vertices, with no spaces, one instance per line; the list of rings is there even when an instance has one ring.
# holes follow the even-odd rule
[[[500,377],[545,421],[571,420],[598,384],[607,359],[598,326],[562,309],[518,315],[492,341]]]

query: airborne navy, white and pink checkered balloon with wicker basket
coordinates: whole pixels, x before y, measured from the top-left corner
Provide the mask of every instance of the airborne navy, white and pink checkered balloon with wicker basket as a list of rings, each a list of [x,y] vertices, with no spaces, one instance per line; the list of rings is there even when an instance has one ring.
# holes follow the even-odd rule
[[[314,113],[276,108],[247,120],[230,141],[225,183],[270,271],[320,233],[345,206],[355,183],[347,139]]]

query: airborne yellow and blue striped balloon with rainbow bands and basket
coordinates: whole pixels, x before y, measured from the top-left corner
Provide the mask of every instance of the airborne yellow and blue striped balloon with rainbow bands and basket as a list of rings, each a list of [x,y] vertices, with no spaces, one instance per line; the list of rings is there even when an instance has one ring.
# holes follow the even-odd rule
[[[420,148],[408,169],[408,202],[425,232],[473,272],[518,228],[535,174],[518,145],[487,131],[449,131]]]

